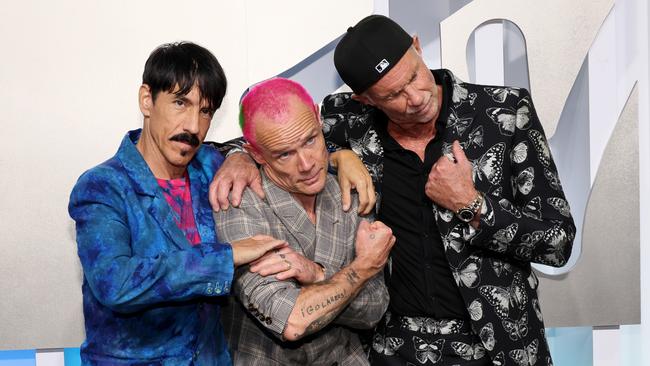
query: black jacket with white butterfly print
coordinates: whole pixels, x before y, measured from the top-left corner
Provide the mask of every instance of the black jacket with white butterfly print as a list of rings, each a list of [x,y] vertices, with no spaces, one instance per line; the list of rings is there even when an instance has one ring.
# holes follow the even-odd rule
[[[478,230],[433,205],[472,329],[495,364],[550,365],[530,263],[564,265],[575,226],[530,94],[432,72],[453,91],[443,95],[450,110],[442,152],[460,141],[485,196]],[[382,112],[339,93],[325,98],[321,113],[328,147],[352,149],[381,196],[383,148],[373,121]]]

